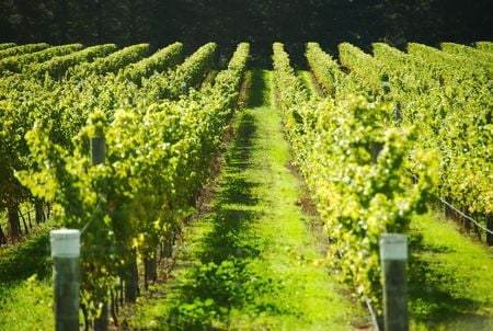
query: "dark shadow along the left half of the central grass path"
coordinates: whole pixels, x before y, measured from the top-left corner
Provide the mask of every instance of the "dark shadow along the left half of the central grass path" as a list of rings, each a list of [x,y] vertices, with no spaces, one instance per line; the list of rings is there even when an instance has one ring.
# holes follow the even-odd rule
[[[251,105],[263,104],[264,85],[262,72],[254,71]],[[263,294],[275,296],[282,288],[278,282],[252,267],[251,262],[261,253],[248,238],[260,217],[252,208],[259,203],[252,193],[257,183],[244,170],[251,163],[256,123],[248,112],[239,121],[236,139],[226,157],[221,189],[215,198],[216,210],[206,219],[213,229],[200,239],[200,263],[193,269],[191,279],[179,288],[179,301],[161,320],[169,330],[228,329],[232,309],[249,316],[280,312],[275,304],[259,301]]]

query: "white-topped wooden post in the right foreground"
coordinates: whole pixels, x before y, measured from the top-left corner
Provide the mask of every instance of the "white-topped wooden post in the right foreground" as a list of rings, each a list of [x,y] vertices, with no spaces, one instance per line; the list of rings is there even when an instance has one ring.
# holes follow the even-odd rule
[[[399,233],[383,233],[380,237],[380,259],[383,274],[385,330],[408,331],[405,276],[408,237]]]

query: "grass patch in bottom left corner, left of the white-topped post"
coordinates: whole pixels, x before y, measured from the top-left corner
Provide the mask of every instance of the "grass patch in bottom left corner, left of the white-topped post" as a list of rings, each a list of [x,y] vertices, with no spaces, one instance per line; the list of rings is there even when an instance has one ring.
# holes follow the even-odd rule
[[[0,331],[54,329],[48,231],[0,251]]]

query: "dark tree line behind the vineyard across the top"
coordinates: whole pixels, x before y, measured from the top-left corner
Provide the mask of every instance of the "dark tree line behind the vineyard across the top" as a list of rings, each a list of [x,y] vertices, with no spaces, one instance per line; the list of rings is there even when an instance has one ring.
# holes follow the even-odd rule
[[[214,41],[225,49],[245,41],[265,55],[282,41],[296,57],[308,41],[335,50],[341,42],[365,49],[372,42],[491,39],[491,12],[489,0],[2,0],[0,41],[156,47]]]

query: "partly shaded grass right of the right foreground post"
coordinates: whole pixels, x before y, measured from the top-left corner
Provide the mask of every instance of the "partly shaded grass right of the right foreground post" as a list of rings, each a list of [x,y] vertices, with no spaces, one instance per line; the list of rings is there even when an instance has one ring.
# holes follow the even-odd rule
[[[415,217],[410,235],[414,329],[493,330],[493,250],[433,213]]]

